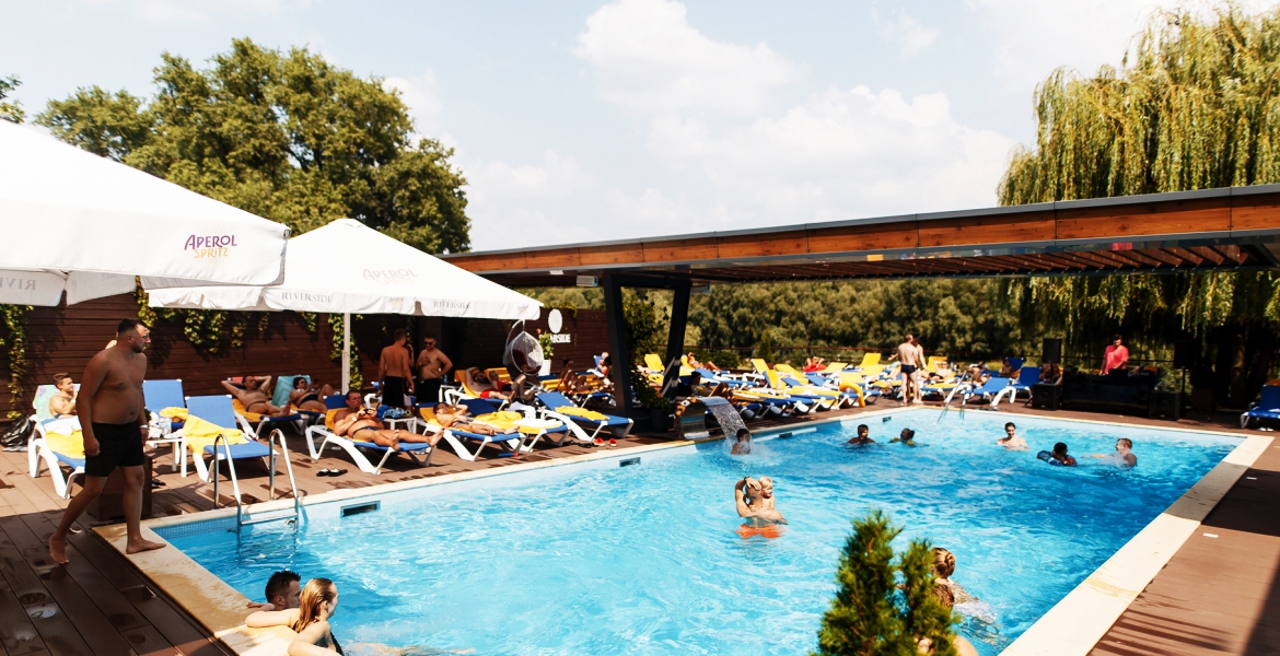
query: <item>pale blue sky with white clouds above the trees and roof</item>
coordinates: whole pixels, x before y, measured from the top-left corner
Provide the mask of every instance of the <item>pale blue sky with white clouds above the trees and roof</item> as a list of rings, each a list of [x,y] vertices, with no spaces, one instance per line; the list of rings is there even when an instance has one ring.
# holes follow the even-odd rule
[[[165,51],[308,47],[456,150],[488,251],[993,206],[1036,86],[1119,66],[1175,6],[0,0],[0,75],[35,114],[93,84],[148,97]]]

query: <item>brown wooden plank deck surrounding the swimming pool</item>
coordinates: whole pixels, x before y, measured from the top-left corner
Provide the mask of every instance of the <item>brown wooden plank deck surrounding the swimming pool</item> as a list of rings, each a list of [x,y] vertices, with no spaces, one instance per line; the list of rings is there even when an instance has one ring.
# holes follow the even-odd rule
[[[820,413],[817,419],[893,409],[884,402],[865,409]],[[1235,428],[1235,417],[1198,416],[1178,423],[1098,413],[1039,412],[1021,404],[1001,410],[1056,418],[1108,421],[1147,427],[1179,427],[1258,435]],[[970,409],[969,412],[982,412]],[[753,431],[804,426],[813,418],[753,425]],[[666,436],[632,436],[620,448],[658,444]],[[312,463],[301,436],[289,437],[298,487],[314,496],[330,490],[360,488],[388,482],[506,467],[520,462],[609,450],[608,448],[539,448],[520,459],[486,458],[466,462],[448,446],[430,468],[393,458],[380,476],[361,473],[340,451]],[[1139,451],[1140,453],[1140,451]],[[152,494],[152,517],[188,514],[212,506],[212,486],[195,476],[172,472],[168,446],[154,451],[156,480],[165,485]],[[398,460],[398,462],[397,462]],[[348,473],[317,477],[321,468]],[[246,501],[268,497],[266,468],[247,462],[241,472]],[[283,472],[283,469],[282,469]],[[276,480],[278,488],[287,485]],[[77,487],[78,488],[78,487]],[[229,503],[230,485],[220,486]],[[1148,653],[1280,653],[1280,445],[1267,449],[1240,477],[1190,540],[1174,555],[1110,632],[1094,646],[1101,655]],[[142,578],[133,565],[87,528],[69,543],[70,565],[54,566],[45,551],[67,501],[54,494],[47,473],[27,474],[27,454],[0,453],[0,656],[229,653],[173,600]],[[1212,533],[1217,537],[1206,537]]]

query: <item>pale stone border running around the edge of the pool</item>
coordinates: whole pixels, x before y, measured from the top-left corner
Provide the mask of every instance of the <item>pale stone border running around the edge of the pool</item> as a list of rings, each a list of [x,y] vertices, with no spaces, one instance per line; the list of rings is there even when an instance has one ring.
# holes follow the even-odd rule
[[[803,425],[769,428],[764,435],[780,435],[792,431],[809,432],[809,430],[815,426],[861,422],[870,417],[910,413],[920,409],[936,408],[899,407],[876,409],[849,417],[831,417],[809,421]],[[983,409],[974,412],[1006,417],[1028,417],[1027,414],[1002,410]],[[1038,414],[1032,417],[1055,419],[1053,417],[1042,417]],[[1098,639],[1106,634],[1115,620],[1119,619],[1120,614],[1129,607],[1129,604],[1137,598],[1138,593],[1140,593],[1142,590],[1151,583],[1151,579],[1156,577],[1169,559],[1172,558],[1181,545],[1196,532],[1201,520],[1203,520],[1210,510],[1217,505],[1226,491],[1235,485],[1239,477],[1243,476],[1249,467],[1252,467],[1252,464],[1272,441],[1272,437],[1266,436],[1244,436],[1198,428],[1153,427],[1078,418],[1056,421],[1097,423],[1105,426],[1132,426],[1134,428],[1148,430],[1160,428],[1166,431],[1216,436],[1239,436],[1244,441],[1228,454],[1221,463],[1211,469],[1208,474],[1192,486],[1192,488],[1188,490],[1181,499],[1175,501],[1169,509],[1156,517],[1156,519],[1147,524],[1146,528],[1120,547],[1119,551],[1112,554],[1112,556],[1103,563],[1102,566],[1094,570],[1083,583],[1068,593],[1066,597],[1059,601],[1039,620],[1032,624],[1025,633],[1019,636],[1018,639],[1002,652],[1002,656],[1088,653]],[[721,441],[723,439],[723,436],[717,436],[704,440],[675,440],[663,444],[632,446],[605,453],[570,455],[535,463],[520,463],[492,469],[442,474],[424,480],[397,481],[355,490],[330,490],[321,495],[307,496],[301,503],[302,505],[312,505],[344,501],[458,481],[513,474],[584,462],[607,460],[622,455],[678,449],[701,442]],[[287,510],[292,508],[292,500],[266,501],[246,506],[244,512],[248,514],[278,512]],[[155,533],[156,528],[234,517],[234,508],[223,508],[186,515],[154,518],[142,523],[142,532],[148,540],[164,541]],[[125,554],[125,535],[123,524],[97,527],[93,531],[106,543],[128,559],[147,579],[164,591],[165,595],[179,604],[183,610],[196,619],[196,621],[204,625],[205,629],[218,637],[237,655],[278,656],[288,651],[288,644],[293,639],[292,630],[284,627],[274,627],[270,629],[247,628],[244,625],[244,616],[247,615],[246,605],[250,600],[183,554],[180,550],[161,549],[142,554]]]

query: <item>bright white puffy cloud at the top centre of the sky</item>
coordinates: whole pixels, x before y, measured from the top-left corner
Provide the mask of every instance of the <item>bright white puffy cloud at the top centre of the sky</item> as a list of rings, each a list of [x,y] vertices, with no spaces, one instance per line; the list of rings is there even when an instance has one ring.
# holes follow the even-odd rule
[[[685,6],[667,0],[621,0],[586,19],[575,54],[591,64],[605,100],[640,115],[751,114],[792,66],[764,43],[707,38],[689,26]]]

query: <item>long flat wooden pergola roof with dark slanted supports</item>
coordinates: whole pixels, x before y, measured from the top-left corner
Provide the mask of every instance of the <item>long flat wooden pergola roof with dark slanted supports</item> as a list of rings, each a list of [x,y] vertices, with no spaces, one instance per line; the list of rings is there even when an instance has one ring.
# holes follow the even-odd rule
[[[1280,184],[1065,201],[443,256],[508,286],[603,288],[628,362],[622,288],[675,290],[667,358],[692,286],[960,276],[1239,271],[1280,266]],[[618,408],[630,407],[614,367]]]

